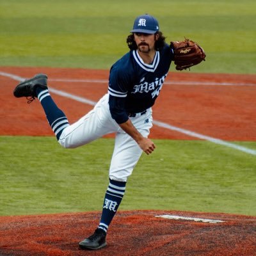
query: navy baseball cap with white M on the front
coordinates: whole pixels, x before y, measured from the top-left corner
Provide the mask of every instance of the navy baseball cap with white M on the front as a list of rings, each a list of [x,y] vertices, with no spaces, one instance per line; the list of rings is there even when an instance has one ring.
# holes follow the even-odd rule
[[[134,20],[131,33],[147,33],[154,34],[159,31],[159,24],[156,18],[151,15],[144,14],[138,16]]]

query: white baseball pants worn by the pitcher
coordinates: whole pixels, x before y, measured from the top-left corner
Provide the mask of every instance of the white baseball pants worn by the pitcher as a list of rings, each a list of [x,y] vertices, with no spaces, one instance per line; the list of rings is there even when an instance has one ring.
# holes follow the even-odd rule
[[[59,143],[65,148],[76,148],[105,134],[115,132],[115,148],[109,168],[109,178],[126,182],[143,151],[111,117],[108,99],[109,95],[104,95],[92,111],[66,127],[60,136]],[[144,115],[137,114],[130,119],[134,127],[147,137],[152,127],[152,109],[149,108]]]

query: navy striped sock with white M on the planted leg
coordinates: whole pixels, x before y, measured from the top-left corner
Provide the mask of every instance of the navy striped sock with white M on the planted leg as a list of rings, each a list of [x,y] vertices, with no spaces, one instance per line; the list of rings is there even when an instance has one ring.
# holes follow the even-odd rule
[[[109,186],[104,199],[102,216],[98,228],[108,231],[109,224],[114,218],[118,206],[121,204],[125,193],[126,182],[109,179]]]

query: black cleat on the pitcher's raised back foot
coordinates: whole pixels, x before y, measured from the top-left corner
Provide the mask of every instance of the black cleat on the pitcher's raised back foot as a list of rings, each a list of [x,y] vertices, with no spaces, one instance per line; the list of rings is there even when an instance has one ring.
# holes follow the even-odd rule
[[[13,95],[17,98],[20,97],[36,97],[36,87],[40,86],[42,89],[47,89],[47,76],[45,74],[36,74],[33,78],[25,80],[18,84],[13,91]]]

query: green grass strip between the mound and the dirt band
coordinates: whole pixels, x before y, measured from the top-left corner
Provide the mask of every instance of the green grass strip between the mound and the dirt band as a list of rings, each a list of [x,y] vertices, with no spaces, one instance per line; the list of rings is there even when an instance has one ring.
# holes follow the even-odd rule
[[[0,137],[0,215],[100,210],[113,143],[67,150],[53,137]],[[155,143],[134,169],[120,209],[256,214],[255,156],[205,141]]]

